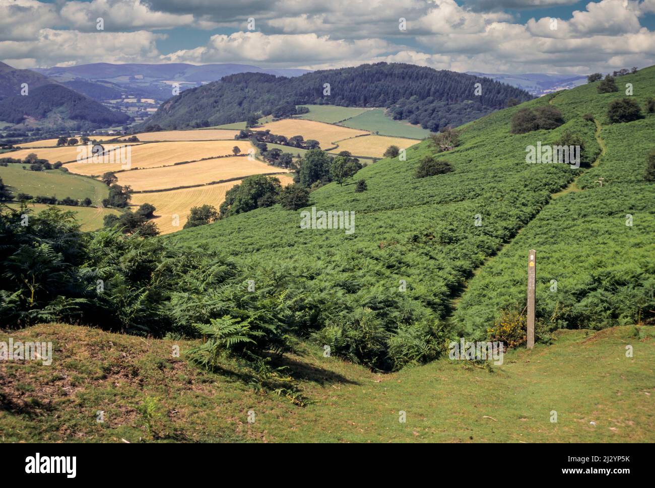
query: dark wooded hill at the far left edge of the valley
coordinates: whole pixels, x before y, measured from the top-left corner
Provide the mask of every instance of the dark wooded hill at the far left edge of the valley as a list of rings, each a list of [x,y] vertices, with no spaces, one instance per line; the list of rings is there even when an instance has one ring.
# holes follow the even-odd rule
[[[0,121],[14,128],[88,129],[128,119],[40,73],[0,62]]]

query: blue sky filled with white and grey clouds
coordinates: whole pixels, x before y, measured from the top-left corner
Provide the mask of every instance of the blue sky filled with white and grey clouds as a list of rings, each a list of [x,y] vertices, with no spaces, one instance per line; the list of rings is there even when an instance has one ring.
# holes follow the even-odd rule
[[[655,64],[655,0],[0,0],[0,60],[607,73]]]

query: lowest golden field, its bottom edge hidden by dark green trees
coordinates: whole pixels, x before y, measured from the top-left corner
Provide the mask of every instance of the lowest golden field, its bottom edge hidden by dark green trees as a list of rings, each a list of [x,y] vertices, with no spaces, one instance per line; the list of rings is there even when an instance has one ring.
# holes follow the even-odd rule
[[[293,178],[288,175],[276,175],[280,179],[282,186],[293,183]],[[242,180],[227,181],[217,185],[206,185],[196,188],[184,188],[171,191],[157,191],[155,193],[134,193],[132,195],[132,205],[138,206],[143,203],[149,203],[155,206],[155,219],[159,232],[170,234],[179,231],[184,227],[189,217],[191,207],[198,207],[204,204],[212,205],[218,210],[225,193],[234,185],[238,185]],[[135,207],[136,208],[136,207]],[[179,225],[174,221],[174,216],[179,217]]]

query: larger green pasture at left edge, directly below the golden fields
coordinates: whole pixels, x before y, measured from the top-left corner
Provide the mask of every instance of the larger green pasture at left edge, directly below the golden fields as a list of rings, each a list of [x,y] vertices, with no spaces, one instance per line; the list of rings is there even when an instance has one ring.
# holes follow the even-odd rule
[[[107,185],[92,178],[65,173],[60,170],[30,171],[24,170],[23,164],[10,163],[0,166],[0,178],[11,187],[14,197],[18,193],[28,193],[57,198],[71,197],[83,200],[88,197],[94,205],[101,205],[103,198],[109,195]]]

